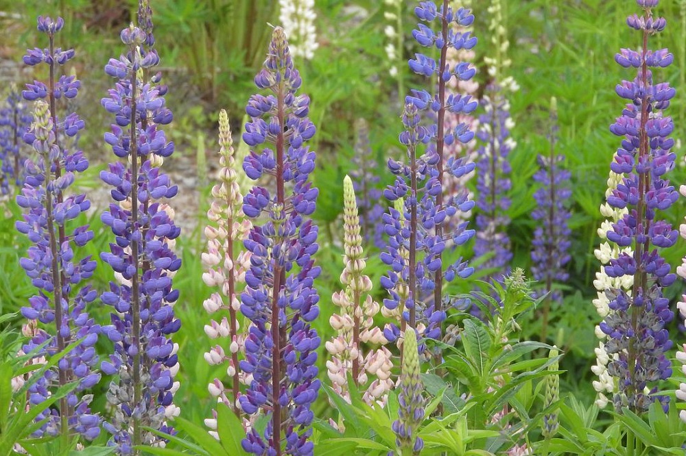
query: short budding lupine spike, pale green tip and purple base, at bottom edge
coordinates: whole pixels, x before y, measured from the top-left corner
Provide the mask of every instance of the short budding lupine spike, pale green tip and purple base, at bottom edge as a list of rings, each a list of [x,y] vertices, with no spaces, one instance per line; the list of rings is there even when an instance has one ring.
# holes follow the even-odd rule
[[[424,420],[424,398],[422,392],[421,372],[419,369],[419,351],[417,335],[414,329],[407,328],[403,338],[403,366],[398,385],[398,419],[393,422],[396,435],[397,455],[419,455],[424,448],[424,441],[417,435]],[[392,456],[394,453],[388,453]]]

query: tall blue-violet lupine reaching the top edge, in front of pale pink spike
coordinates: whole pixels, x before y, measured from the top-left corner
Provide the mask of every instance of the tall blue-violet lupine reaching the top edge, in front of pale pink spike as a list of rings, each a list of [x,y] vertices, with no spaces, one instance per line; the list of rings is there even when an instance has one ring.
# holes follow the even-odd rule
[[[410,222],[410,232],[419,231],[416,236],[416,249],[423,250],[424,255],[420,260],[413,262],[412,249],[415,249],[413,241],[410,240],[410,264],[416,264],[418,290],[414,290],[412,279],[410,279],[410,296],[407,300],[410,309],[410,320],[412,320],[412,309],[415,301],[419,302],[421,296],[427,296],[427,304],[423,313],[427,314],[429,324],[427,330],[431,338],[440,338],[440,322],[445,318],[443,303],[443,281],[452,281],[456,276],[466,278],[471,275],[473,268],[469,267],[462,258],[456,262],[445,265],[442,261],[443,251],[447,243],[460,246],[474,236],[474,231],[467,229],[467,223],[459,223],[455,227],[448,227],[457,212],[468,212],[473,207],[473,201],[469,200],[466,189],[455,192],[448,199],[443,198],[446,189],[446,179],[448,175],[460,178],[474,169],[474,164],[469,163],[466,157],[447,157],[445,148],[450,147],[454,142],[468,143],[474,137],[472,131],[466,123],[460,123],[456,127],[446,123],[447,114],[470,114],[477,107],[477,102],[473,101],[469,95],[449,94],[449,84],[452,79],[466,81],[475,74],[475,69],[469,62],[460,62],[450,65],[447,61],[447,52],[451,49],[455,51],[472,49],[477,39],[471,36],[471,31],[464,31],[463,27],[469,27],[474,16],[459,8],[453,10],[447,0],[442,2],[440,7],[433,1],[421,1],[414,12],[422,23],[417,25],[417,29],[412,31],[412,36],[422,47],[427,48],[427,55],[416,53],[415,58],[409,61],[410,69],[418,75],[432,77],[436,75],[438,79],[438,90],[432,94],[427,90],[412,90],[412,95],[405,99],[405,103],[414,105],[418,112],[425,113],[430,125],[419,127],[414,120],[415,115],[407,112],[403,116],[405,133],[401,134],[401,142],[410,149],[418,144],[426,144],[425,153],[419,160],[412,163],[410,153],[410,166],[401,166],[389,162],[389,166],[397,181],[395,190],[388,190],[386,197],[394,201],[397,197],[403,197],[405,188],[410,188],[410,194],[405,198],[407,207],[407,220]],[[429,26],[436,25],[438,31],[434,31]],[[456,29],[453,27],[453,24]],[[438,55],[438,60],[431,56],[429,49],[435,48],[434,53]],[[412,120],[410,120],[412,119]],[[408,122],[409,121],[409,122]],[[414,166],[416,165],[416,166]],[[401,178],[405,177],[405,179]],[[403,181],[408,181],[410,186]],[[418,192],[419,187],[412,185],[416,181],[422,183],[423,191]],[[413,209],[414,208],[414,209]],[[416,210],[416,216],[413,216]],[[407,237],[410,239],[412,234]],[[394,272],[399,265],[394,264]],[[410,270],[413,266],[409,266]],[[392,277],[391,273],[391,277]],[[409,274],[408,274],[409,276]],[[387,283],[388,284],[388,283]],[[390,288],[390,287],[386,287]],[[386,301],[391,305],[396,301]],[[414,327],[414,322],[410,322]],[[421,344],[423,345],[423,344]]]

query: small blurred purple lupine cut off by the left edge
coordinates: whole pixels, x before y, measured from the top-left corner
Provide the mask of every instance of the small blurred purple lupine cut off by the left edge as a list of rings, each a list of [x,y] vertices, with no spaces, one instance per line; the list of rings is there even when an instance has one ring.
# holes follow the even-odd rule
[[[13,84],[5,107],[0,109],[0,194],[23,185],[26,157],[21,153],[21,144],[31,121],[32,116]]]

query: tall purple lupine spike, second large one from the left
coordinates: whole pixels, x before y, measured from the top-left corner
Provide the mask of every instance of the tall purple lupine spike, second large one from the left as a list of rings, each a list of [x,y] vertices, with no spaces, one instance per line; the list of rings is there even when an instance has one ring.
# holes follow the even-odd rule
[[[121,454],[133,453],[134,445],[164,445],[164,438],[143,427],[171,435],[174,430],[166,420],[179,413],[172,402],[178,389],[178,345],[169,337],[180,328],[173,309],[179,294],[172,288],[181,266],[173,250],[180,229],[174,225],[171,207],[158,201],[177,192],[158,168],[163,157],[174,152],[174,143],[167,142],[159,128],[171,122],[172,114],[163,98],[167,87],[158,85],[161,76],[148,77],[159,57],[152,49],[152,17],[145,1],[140,3],[138,22],[141,28],[131,25],[121,31],[126,53],[105,66],[117,84],[102,99],[115,115],[105,142],[127,160],[110,164],[100,174],[114,187],[110,194],[116,201],[102,214],[115,242],[101,257],[117,277],[102,294],[103,303],[115,309],[112,324],[103,327],[115,343],[115,353],[102,363],[102,370],[119,375],[107,393],[108,403],[115,407],[113,420],[104,427],[112,434],[109,444]]]

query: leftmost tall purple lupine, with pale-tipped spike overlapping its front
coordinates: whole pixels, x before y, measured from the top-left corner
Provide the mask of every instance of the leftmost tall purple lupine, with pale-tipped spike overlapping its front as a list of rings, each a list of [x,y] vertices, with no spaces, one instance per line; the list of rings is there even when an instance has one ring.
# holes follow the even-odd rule
[[[22,307],[21,314],[42,324],[31,331],[32,338],[22,351],[36,350],[36,357],[49,359],[80,340],[56,368],[47,370],[29,387],[29,405],[42,403],[60,386],[78,382],[76,389],[60,399],[56,407],[38,414],[36,420],[45,422],[36,435],[61,434],[68,438],[71,432],[77,432],[91,440],[99,435],[100,418],[89,410],[93,396],[82,392],[100,379],[93,372],[97,364],[94,346],[100,328],[86,313],[86,305],[95,301],[97,292],[82,285],[93,275],[95,262],[89,256],[79,259],[75,251],[93,239],[93,231],[87,225],[71,226],[91,203],[84,194],[68,193],[75,176],[88,168],[88,161],[82,151],[69,150],[63,143],[64,137],[77,134],[84,122],[77,114],[57,115],[58,101],[75,97],[80,88],[75,78],[56,75],[58,65],[74,56],[73,49],[63,51],[54,45],[55,35],[63,26],[62,18],[54,21],[40,16],[38,30],[48,36],[49,47],[29,49],[24,56],[24,62],[30,66],[49,66],[49,81],[47,85],[40,81],[27,84],[22,93],[24,99],[38,101],[32,127],[24,136],[35,152],[34,159],[25,162],[25,183],[16,198],[17,204],[25,209],[24,220],[16,223],[16,229],[34,243],[20,264],[38,288],[38,294],[29,299],[29,306]]]

